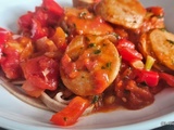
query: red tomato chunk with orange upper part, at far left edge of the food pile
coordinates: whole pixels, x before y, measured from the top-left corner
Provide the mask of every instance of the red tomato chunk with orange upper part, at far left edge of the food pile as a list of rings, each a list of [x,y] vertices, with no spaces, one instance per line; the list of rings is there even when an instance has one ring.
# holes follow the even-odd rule
[[[33,54],[33,44],[29,38],[11,35],[2,49],[1,67],[10,79],[23,77],[21,62]]]

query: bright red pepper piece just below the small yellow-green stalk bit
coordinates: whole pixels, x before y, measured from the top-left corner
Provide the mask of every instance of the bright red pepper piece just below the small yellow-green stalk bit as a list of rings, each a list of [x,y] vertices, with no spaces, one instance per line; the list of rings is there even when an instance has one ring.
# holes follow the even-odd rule
[[[156,87],[159,83],[159,74],[152,70],[136,70],[136,81],[145,82],[149,87]]]

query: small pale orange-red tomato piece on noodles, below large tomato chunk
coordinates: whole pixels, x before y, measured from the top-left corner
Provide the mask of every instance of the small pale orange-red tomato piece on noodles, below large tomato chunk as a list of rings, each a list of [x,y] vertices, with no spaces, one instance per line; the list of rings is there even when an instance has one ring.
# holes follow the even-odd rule
[[[41,92],[45,91],[45,89],[40,89],[38,87],[35,87],[33,83],[30,83],[28,80],[26,80],[22,89],[30,96],[38,98],[41,95]]]

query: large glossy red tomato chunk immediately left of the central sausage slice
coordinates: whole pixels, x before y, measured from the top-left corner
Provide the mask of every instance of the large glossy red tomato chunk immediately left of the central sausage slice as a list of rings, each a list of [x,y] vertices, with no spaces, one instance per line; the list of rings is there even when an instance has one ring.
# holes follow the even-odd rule
[[[23,65],[26,80],[40,89],[55,90],[59,79],[58,63],[46,56],[28,60]]]

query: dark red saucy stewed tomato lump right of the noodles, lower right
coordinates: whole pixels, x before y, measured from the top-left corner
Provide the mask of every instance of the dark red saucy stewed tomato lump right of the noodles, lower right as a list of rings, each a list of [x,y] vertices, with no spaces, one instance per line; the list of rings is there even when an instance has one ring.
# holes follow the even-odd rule
[[[135,80],[122,79],[115,83],[117,100],[129,109],[139,109],[154,101],[153,94],[147,87],[139,87]]]

